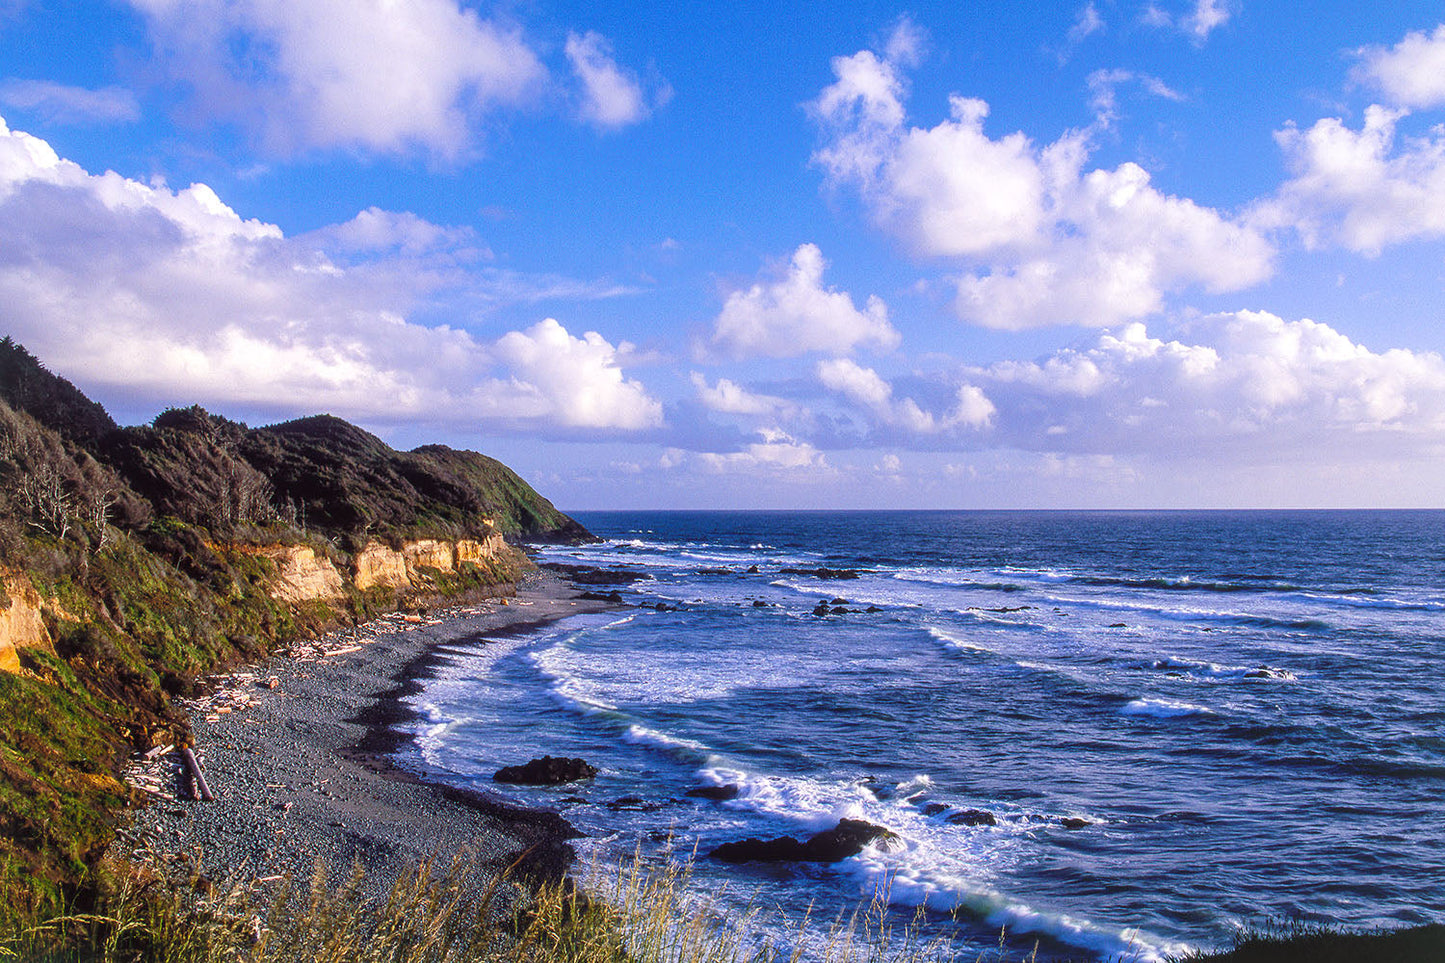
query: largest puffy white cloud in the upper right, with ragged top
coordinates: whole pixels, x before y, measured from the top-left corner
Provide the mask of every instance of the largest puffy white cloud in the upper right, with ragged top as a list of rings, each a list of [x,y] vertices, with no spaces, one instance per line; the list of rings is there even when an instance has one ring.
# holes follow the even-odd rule
[[[1166,294],[1238,291],[1273,270],[1259,230],[1160,192],[1139,165],[1085,171],[1088,132],[1043,147],[993,139],[988,104],[958,95],[948,120],[910,127],[896,65],[864,51],[832,67],[812,104],[825,132],[815,163],[879,226],[965,268],[955,307],[967,321],[1113,327],[1157,312]]]

